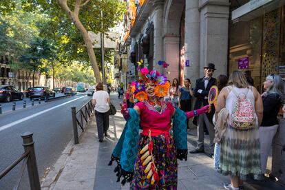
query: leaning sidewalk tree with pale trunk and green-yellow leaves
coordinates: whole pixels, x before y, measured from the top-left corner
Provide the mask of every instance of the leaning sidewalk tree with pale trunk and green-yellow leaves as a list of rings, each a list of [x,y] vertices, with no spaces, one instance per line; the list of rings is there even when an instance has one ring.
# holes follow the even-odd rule
[[[84,44],[77,51],[87,52],[90,65],[94,71],[96,81],[102,81],[101,74],[98,69],[98,63],[93,50],[92,41],[87,31],[91,30],[95,33],[107,32],[110,28],[120,21],[125,12],[124,4],[119,0],[25,0],[25,8],[34,10],[41,8],[49,14],[52,21],[57,21],[61,27],[67,26],[76,28],[81,34]],[[64,11],[64,12],[63,12]],[[103,17],[102,17],[103,15]],[[69,25],[66,18],[72,23]],[[72,39],[74,36],[68,36]]]

